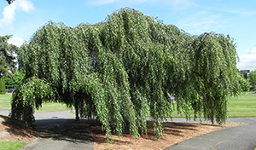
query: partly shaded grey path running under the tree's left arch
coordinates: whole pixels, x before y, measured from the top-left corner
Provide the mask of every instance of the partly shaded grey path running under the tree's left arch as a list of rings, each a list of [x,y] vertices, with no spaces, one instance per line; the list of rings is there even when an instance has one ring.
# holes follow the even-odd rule
[[[9,111],[0,110],[0,114],[8,116]],[[75,115],[70,111],[34,113],[34,116],[38,138],[20,150],[93,150],[94,142],[86,132],[88,129],[76,125],[78,122],[72,121]]]

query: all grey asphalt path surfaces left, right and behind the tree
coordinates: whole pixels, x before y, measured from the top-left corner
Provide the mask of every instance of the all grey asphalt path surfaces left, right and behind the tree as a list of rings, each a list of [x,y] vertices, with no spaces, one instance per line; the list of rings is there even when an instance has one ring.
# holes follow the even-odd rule
[[[0,110],[0,114],[8,115],[9,111]],[[75,118],[70,111],[55,113],[35,113],[39,136],[21,150],[43,149],[93,149],[93,140],[89,134],[73,134],[73,125],[68,120]],[[171,120],[169,120],[171,121]],[[172,122],[193,123],[185,118],[173,118]],[[253,150],[256,145],[256,118],[228,118],[227,122],[244,123],[240,126],[218,130],[202,136],[177,143],[166,150]],[[60,130],[67,129],[67,130]],[[70,131],[72,130],[72,131]]]

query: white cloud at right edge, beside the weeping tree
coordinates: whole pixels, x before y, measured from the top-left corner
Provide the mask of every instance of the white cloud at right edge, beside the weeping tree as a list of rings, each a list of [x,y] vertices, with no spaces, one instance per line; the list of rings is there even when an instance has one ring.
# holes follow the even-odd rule
[[[256,47],[245,55],[239,55],[239,62],[237,62],[237,68],[256,70]]]

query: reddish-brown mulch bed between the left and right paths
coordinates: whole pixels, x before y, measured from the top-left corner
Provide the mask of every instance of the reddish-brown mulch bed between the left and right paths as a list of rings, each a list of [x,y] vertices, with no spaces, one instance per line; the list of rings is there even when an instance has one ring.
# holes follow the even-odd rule
[[[139,137],[138,141],[129,134],[124,134],[123,137],[113,136],[113,143],[107,143],[104,133],[100,133],[100,127],[96,126],[93,129],[95,140],[95,150],[113,149],[113,150],[160,150],[166,147],[171,147],[180,141],[185,141],[195,136],[201,136],[216,130],[223,130],[240,124],[225,124],[223,126],[212,124],[195,124],[195,123],[166,123],[163,124],[165,133],[160,141],[155,139],[152,124],[148,124],[148,136]],[[98,130],[98,132],[96,131]]]

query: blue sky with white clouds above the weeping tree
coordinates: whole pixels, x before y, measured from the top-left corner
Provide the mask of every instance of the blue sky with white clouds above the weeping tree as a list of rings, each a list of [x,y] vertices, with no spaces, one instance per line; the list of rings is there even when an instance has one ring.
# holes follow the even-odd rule
[[[20,46],[49,20],[71,27],[96,24],[125,7],[191,35],[230,35],[236,41],[237,68],[256,70],[255,0],[15,0],[10,5],[0,0],[0,36],[12,35],[9,43]]]

